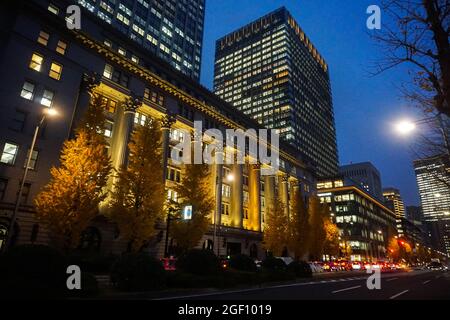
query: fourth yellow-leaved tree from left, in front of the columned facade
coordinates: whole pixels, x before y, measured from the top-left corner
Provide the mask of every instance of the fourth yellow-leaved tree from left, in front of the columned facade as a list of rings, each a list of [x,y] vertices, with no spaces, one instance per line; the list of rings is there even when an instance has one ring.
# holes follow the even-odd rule
[[[276,198],[266,213],[263,245],[276,257],[282,255],[288,244],[288,217],[284,209],[284,204]]]

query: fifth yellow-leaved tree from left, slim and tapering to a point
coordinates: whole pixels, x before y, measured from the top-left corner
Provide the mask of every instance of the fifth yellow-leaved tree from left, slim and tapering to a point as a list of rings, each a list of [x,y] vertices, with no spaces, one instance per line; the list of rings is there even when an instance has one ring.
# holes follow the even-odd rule
[[[310,240],[309,213],[300,191],[294,191],[289,221],[288,248],[296,259],[306,259]]]

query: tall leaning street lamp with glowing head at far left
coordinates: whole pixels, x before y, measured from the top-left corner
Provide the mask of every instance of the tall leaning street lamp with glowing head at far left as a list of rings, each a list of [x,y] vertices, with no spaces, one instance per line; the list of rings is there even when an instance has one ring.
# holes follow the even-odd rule
[[[33,150],[34,150],[34,146],[36,144],[39,130],[42,127],[42,125],[44,124],[47,116],[54,117],[57,114],[58,114],[58,112],[55,109],[45,108],[42,113],[41,120],[38,122],[38,124],[36,125],[36,128],[34,129],[33,140],[31,141],[30,151],[28,152],[27,160],[25,162],[25,169],[23,171],[22,181],[20,182],[19,192],[17,193],[17,199],[16,199],[16,203],[14,205],[14,211],[11,216],[10,223],[9,223],[8,234],[6,235],[6,245],[5,245],[4,250],[8,250],[9,246],[11,245],[12,235],[14,232],[14,225],[16,224],[16,219],[17,219],[17,212],[19,211],[19,206],[20,206],[20,199],[22,198],[23,187],[25,185],[25,180],[27,179],[28,169],[30,168],[31,157],[33,155]]]

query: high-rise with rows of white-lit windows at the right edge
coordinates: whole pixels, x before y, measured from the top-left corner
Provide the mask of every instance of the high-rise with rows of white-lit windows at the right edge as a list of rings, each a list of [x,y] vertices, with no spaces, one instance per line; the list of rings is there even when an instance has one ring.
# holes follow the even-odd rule
[[[424,221],[433,245],[450,254],[450,176],[442,156],[414,161]]]

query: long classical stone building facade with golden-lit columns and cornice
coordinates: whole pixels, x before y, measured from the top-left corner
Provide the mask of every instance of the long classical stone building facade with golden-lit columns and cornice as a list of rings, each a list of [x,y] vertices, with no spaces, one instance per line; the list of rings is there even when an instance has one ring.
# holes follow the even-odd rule
[[[55,4],[61,9],[55,12]],[[66,28],[64,1],[11,1],[0,10],[0,235],[4,240],[23,174],[25,157],[34,128],[46,108],[58,117],[48,119],[38,137],[32,168],[25,183],[13,238],[15,243],[46,243],[45,226],[33,217],[33,199],[50,178],[51,166],[58,164],[64,140],[71,137],[92,96],[106,102],[108,119],[103,134],[117,169],[126,164],[130,134],[145,119],[162,123],[162,163],[166,168],[167,194],[173,200],[175,184],[183,166],[175,163],[171,148],[180,142],[180,132],[192,131],[194,121],[203,128],[262,128],[254,120],[182,74],[169,63],[150,54],[109,24],[87,15],[81,31]],[[126,50],[126,55],[120,52]],[[137,59],[133,58],[136,57]],[[216,223],[199,246],[220,255],[246,253],[262,256],[264,214],[275,197],[289,204],[294,189],[304,196],[315,190],[315,177],[299,161],[296,150],[280,144],[280,159],[272,175],[262,175],[265,164],[211,167],[216,205],[211,222]],[[227,176],[232,174],[232,181]],[[95,249],[121,252],[124,242],[115,226],[102,216],[89,228],[96,235]],[[165,226],[152,239],[148,251],[164,253]],[[214,243],[214,239],[217,239]],[[3,244],[1,242],[0,244]]]

